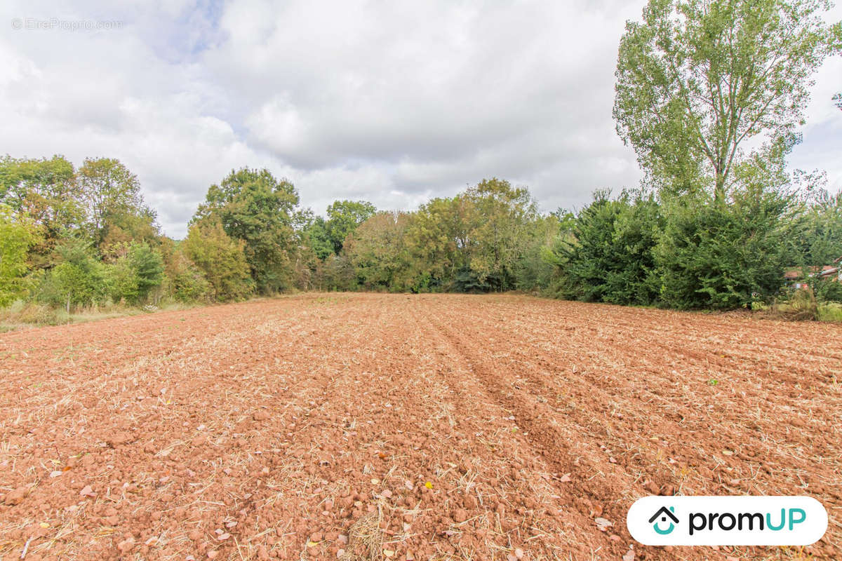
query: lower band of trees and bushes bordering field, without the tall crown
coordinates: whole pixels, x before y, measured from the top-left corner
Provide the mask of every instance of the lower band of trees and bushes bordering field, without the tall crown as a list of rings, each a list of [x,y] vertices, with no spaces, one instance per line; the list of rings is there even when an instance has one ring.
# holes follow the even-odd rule
[[[326,216],[296,188],[243,168],[210,186],[182,241],[163,236],[119,161],[0,161],[0,303],[68,310],[123,302],[231,301],[299,290],[522,290],[615,304],[733,309],[781,296],[786,267],[842,255],[842,194],[782,170],[714,193],[594,193],[539,212],[527,188],[491,178],[413,212],[336,201]],[[805,275],[807,277],[807,275]],[[816,283],[842,299],[839,283]]]

